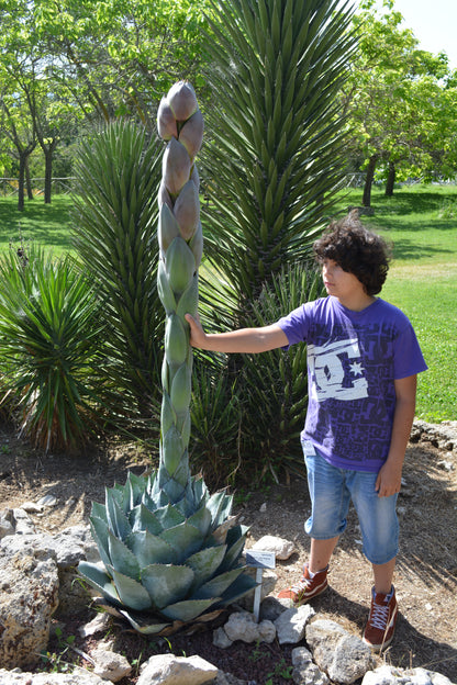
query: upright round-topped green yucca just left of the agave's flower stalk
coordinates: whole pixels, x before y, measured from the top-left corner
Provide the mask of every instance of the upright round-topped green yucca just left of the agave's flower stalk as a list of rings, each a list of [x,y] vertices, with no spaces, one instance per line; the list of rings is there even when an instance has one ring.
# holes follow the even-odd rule
[[[110,326],[100,369],[107,406],[116,420],[145,419],[151,431],[160,405],[163,308],[153,247],[160,150],[144,127],[112,122],[81,144],[76,176],[74,244]]]

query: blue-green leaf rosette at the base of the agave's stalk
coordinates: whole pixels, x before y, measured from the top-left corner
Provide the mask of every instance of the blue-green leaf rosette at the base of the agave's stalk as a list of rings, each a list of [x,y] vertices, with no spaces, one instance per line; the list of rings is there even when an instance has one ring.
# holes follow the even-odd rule
[[[107,490],[104,506],[92,506],[104,570],[81,562],[79,573],[142,632],[204,620],[210,610],[214,617],[254,585],[242,577],[246,528],[233,525],[231,506],[228,495],[210,496],[200,480],[174,504],[156,474],[129,474],[124,486]]]

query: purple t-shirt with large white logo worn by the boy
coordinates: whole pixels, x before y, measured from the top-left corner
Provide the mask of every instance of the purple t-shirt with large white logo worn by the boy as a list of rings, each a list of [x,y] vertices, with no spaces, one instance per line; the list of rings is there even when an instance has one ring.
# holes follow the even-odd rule
[[[317,449],[335,467],[379,471],[390,446],[393,381],[427,368],[408,317],[380,299],[354,312],[328,296],[278,325],[289,345],[308,344],[304,453]]]

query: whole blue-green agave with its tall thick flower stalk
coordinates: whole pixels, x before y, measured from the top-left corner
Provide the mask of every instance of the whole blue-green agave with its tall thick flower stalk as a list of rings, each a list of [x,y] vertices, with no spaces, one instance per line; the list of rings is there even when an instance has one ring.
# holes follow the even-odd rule
[[[192,349],[187,312],[197,313],[203,239],[194,156],[203,117],[193,88],[176,83],[157,113],[168,141],[159,189],[157,284],[166,313],[160,463],[147,479],[129,474],[107,490],[90,517],[103,566],[79,572],[111,611],[144,633],[205,622],[255,585],[239,562],[247,528],[231,517],[232,497],[210,495],[190,475]]]

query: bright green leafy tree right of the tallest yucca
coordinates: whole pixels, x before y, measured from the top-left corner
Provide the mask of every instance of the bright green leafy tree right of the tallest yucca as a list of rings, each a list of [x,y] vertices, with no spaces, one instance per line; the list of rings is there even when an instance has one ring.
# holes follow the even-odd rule
[[[437,120],[448,121],[444,90],[449,77],[447,57],[419,49],[419,42],[393,0],[384,0],[383,13],[374,0],[360,3],[354,16],[359,49],[352,60],[352,75],[342,91],[353,136],[349,156],[361,158],[366,170],[363,204],[370,205],[371,184],[380,164],[387,177],[387,193],[393,192],[399,170],[403,176],[426,173],[432,147],[439,149]]]

